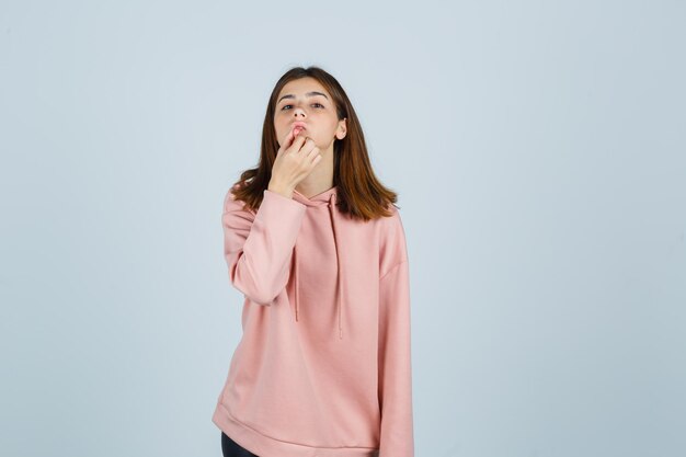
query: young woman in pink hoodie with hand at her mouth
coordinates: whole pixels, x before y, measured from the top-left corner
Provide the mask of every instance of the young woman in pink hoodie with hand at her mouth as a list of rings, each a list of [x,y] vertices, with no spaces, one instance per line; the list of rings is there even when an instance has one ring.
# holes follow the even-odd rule
[[[225,457],[413,457],[410,287],[397,194],[339,82],[288,70],[258,167],[221,217],[242,338],[213,415]]]

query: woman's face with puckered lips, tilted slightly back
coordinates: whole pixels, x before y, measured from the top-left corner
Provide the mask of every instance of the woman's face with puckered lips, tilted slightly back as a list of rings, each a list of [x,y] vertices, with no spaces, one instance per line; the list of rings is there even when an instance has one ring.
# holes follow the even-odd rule
[[[298,136],[315,140],[322,157],[333,153],[336,138],[345,137],[345,119],[339,121],[333,99],[315,78],[289,81],[276,100],[274,128],[279,146],[295,123],[305,126]]]

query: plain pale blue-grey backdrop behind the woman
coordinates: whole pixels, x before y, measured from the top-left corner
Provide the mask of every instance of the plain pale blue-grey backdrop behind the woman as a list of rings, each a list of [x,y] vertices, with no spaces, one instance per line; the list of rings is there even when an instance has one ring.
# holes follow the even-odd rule
[[[416,456],[685,455],[685,19],[2,2],[0,455],[220,456],[221,203],[295,65],[340,80],[400,195]]]

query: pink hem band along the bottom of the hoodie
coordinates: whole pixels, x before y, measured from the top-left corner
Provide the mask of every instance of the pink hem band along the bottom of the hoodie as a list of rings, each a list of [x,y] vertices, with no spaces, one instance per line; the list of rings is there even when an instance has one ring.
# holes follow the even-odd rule
[[[217,403],[211,421],[236,443],[259,457],[378,457],[369,447],[312,447],[265,436],[239,422],[227,408]]]

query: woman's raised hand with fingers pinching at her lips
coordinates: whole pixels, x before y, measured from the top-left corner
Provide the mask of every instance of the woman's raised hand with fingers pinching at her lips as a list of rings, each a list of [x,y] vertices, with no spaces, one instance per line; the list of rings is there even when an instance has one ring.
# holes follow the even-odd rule
[[[296,185],[315,170],[321,160],[321,155],[315,140],[295,134],[295,128],[288,132],[281,145],[272,167],[272,179],[267,188],[291,197]]]

